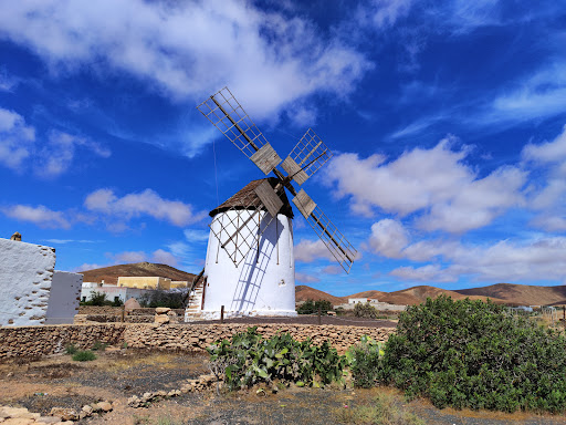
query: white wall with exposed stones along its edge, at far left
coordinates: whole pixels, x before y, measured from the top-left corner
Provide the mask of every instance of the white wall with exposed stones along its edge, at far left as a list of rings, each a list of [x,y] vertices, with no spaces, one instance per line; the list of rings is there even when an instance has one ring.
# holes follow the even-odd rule
[[[45,321],[55,249],[0,239],[0,325]]]

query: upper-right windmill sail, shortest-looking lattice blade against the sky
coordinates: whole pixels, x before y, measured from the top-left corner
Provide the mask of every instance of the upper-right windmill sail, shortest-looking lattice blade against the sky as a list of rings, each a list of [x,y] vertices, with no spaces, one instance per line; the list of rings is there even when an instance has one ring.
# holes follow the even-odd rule
[[[305,183],[328,159],[332,152],[316,133],[308,128],[281,166],[298,185]]]

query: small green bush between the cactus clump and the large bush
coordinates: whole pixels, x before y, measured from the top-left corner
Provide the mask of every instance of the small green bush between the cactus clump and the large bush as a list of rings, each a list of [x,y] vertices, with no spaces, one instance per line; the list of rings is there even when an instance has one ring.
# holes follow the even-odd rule
[[[370,388],[376,385],[379,372],[379,359],[382,357],[384,343],[376,342],[370,336],[361,336],[357,345],[352,345],[346,351],[352,379],[355,386]]]

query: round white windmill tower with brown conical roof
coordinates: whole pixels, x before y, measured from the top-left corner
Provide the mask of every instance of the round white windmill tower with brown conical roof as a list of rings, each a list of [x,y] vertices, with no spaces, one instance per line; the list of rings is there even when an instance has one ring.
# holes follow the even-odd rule
[[[222,305],[226,317],[296,314],[293,210],[289,199],[284,194],[280,196],[283,207],[273,220],[268,211],[247,209],[250,199],[256,196],[254,189],[265,180],[272,186],[276,182],[251,182],[210,211],[213,220],[205,266],[202,310],[198,313],[203,318],[218,318]],[[248,221],[250,217],[252,220]],[[234,224],[229,225],[232,220]],[[214,234],[220,234],[223,228],[224,235],[232,235],[237,224],[247,221],[250,225],[241,229],[238,238],[247,240],[253,234],[261,236],[245,259],[235,265]]]

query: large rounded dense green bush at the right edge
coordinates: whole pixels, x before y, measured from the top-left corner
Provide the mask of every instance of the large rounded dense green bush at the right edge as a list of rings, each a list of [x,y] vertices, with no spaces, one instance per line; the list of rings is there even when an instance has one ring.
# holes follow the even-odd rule
[[[409,307],[376,363],[381,383],[440,408],[566,408],[566,339],[490,301]]]

